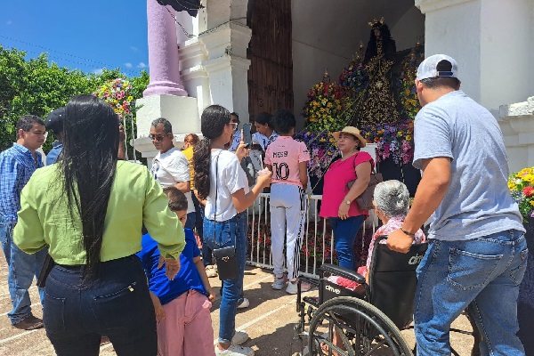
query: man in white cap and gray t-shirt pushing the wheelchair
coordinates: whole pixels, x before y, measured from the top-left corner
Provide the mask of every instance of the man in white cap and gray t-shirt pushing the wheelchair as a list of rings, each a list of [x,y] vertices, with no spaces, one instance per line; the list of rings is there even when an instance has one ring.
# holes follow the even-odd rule
[[[524,355],[517,322],[528,249],[522,217],[506,185],[505,144],[497,120],[460,91],[457,62],[423,61],[416,88],[414,166],[424,171],[413,206],[388,246],[407,252],[433,214],[429,247],[417,268],[417,354],[450,354],[449,328],[467,307],[482,355]]]

